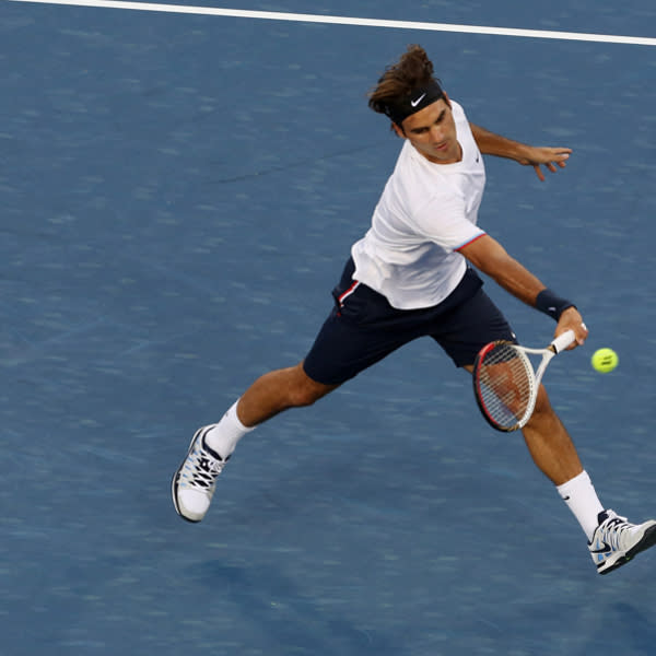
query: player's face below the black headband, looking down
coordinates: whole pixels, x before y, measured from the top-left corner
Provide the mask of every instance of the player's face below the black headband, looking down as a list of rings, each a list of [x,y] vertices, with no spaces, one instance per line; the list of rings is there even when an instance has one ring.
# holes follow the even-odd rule
[[[403,120],[402,129],[395,124],[397,134],[410,143],[426,160],[435,164],[454,164],[462,157],[456,137],[456,122],[448,98],[440,98]]]

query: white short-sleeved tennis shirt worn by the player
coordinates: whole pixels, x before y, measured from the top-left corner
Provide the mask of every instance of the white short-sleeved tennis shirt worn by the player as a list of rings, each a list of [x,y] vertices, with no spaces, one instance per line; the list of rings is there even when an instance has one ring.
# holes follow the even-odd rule
[[[444,301],[467,267],[457,249],[485,234],[477,227],[483,157],[462,107],[452,108],[462,160],[434,164],[406,140],[371,229],[351,248],[353,278],[399,309]]]

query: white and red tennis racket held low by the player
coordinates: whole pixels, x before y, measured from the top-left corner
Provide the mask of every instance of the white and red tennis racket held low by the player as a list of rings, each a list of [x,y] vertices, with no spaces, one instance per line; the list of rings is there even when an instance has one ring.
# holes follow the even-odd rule
[[[481,349],[473,364],[473,394],[493,429],[517,431],[528,423],[547,365],[575,339],[574,331],[567,330],[546,349],[528,349],[503,340]],[[541,355],[537,370],[529,355]]]

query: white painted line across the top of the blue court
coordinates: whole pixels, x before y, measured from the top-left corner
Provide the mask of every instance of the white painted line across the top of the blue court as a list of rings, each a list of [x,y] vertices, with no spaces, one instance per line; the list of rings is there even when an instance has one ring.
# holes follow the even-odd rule
[[[565,40],[656,46],[656,38],[640,36],[616,36],[612,34],[585,34],[578,32],[549,32],[543,30],[515,30],[512,27],[487,27],[480,25],[452,25],[448,23],[417,23],[412,21],[385,21],[378,19],[354,19],[349,16],[325,16],[277,11],[248,11],[219,9],[214,7],[185,7],[179,4],[155,4],[152,2],[124,2],[122,0],[11,0],[12,2],[39,2],[43,4],[69,4],[106,9],[130,9],[136,11],[160,11],[166,13],[232,16],[239,19],[263,19],[268,21],[292,21],[298,23],[326,23],[359,25],[364,27],[394,27],[396,30],[424,30],[432,32],[460,32],[466,34],[492,34],[497,36],[524,36],[528,38],[559,38]]]

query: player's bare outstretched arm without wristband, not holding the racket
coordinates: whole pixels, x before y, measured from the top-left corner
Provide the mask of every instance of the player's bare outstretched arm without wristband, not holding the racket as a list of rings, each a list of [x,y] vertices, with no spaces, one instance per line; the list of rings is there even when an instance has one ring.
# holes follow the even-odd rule
[[[541,166],[547,166],[551,173],[555,173],[557,167],[565,167],[565,162],[572,153],[571,148],[527,145],[526,143],[494,134],[494,132],[490,132],[485,128],[476,126],[472,122],[469,126],[471,127],[471,133],[476,143],[483,155],[507,157],[508,160],[515,160],[515,162],[523,166],[532,166],[542,181],[544,181],[544,174]]]

